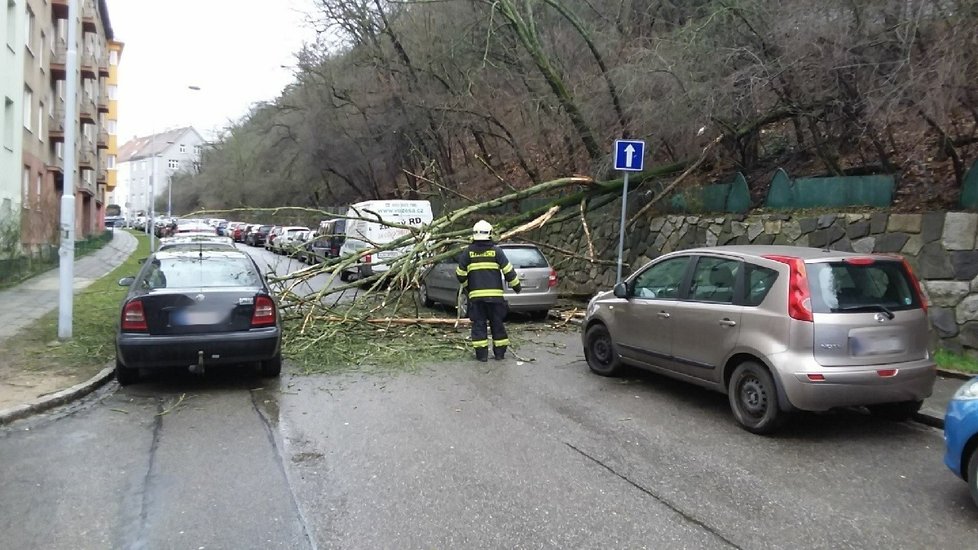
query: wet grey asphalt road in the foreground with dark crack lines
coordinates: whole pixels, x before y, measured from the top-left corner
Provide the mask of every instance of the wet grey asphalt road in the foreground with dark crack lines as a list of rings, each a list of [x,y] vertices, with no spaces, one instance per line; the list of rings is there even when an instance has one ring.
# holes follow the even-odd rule
[[[974,548],[939,431],[859,411],[739,429],[726,399],[528,361],[110,385],[0,429],[4,548]]]

